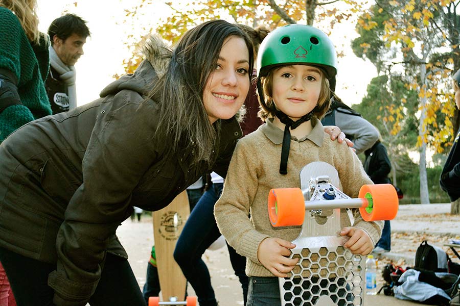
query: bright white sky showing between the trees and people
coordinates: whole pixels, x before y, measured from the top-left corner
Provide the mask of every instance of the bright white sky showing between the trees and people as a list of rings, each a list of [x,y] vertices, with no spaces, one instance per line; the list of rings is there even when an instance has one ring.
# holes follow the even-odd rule
[[[38,0],[41,32],[47,32],[50,23],[67,12],[87,21],[91,36],[83,46],[84,55],[75,65],[79,106],[97,99],[100,91],[114,80],[112,75],[123,73],[123,60],[130,55],[124,44],[126,37],[140,38],[147,33],[146,28],[154,28],[160,18],[168,16],[171,11],[165,1],[153,0],[149,14],[134,20],[126,17],[125,9],[131,10],[140,0]],[[374,65],[357,58],[349,47],[357,36],[354,27],[352,23],[344,23],[331,34],[334,43],[346,46],[345,57],[338,59],[336,93],[350,106],[361,102],[367,84],[377,75]]]

